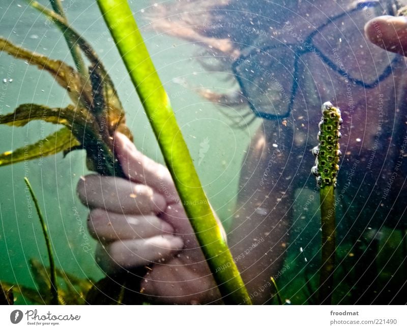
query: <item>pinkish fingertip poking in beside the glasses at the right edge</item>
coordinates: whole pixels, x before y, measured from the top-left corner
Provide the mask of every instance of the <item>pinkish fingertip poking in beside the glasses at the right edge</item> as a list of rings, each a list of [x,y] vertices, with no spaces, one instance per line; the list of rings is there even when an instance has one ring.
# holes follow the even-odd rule
[[[407,56],[407,17],[375,17],[366,23],[365,34],[375,45]]]

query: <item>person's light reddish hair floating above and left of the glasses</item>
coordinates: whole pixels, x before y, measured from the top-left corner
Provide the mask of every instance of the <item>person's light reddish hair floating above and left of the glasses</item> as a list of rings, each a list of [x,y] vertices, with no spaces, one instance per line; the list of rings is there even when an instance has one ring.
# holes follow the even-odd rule
[[[284,17],[287,11],[295,10],[299,2],[301,0],[177,0],[154,7],[149,18],[160,32],[199,43],[202,47],[197,57],[201,58],[199,62],[204,68],[231,72],[234,58],[252,45],[253,38],[282,27],[281,20],[273,18]],[[229,77],[234,79],[233,75]],[[241,119],[242,116],[250,117],[250,121],[255,118],[240,88],[230,94],[217,94],[208,89],[199,93],[226,108],[241,108],[244,110],[238,115]]]

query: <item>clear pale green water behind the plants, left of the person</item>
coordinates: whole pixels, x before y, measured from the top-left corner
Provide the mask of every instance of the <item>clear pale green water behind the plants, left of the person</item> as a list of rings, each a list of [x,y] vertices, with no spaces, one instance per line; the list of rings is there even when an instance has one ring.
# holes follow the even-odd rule
[[[47,1],[41,3],[48,4]],[[137,1],[131,6],[176,111],[203,187],[227,226],[235,206],[242,158],[257,125],[237,129],[218,107],[196,94],[194,89],[197,87],[213,88],[225,83],[219,81],[219,76],[206,73],[193,60],[198,50],[196,45],[162,36],[150,29],[140,12],[149,4],[149,1]],[[3,37],[73,65],[62,34],[43,15],[20,1],[2,3],[0,7]],[[144,154],[162,162],[146,115],[96,4],[65,1],[64,7],[70,23],[92,44],[108,69],[126,110],[127,124],[134,134],[136,146]],[[52,107],[65,107],[70,103],[67,93],[47,72],[4,53],[0,53],[0,78],[13,80],[2,83],[2,114],[12,112],[23,103]],[[2,126],[0,129],[0,151],[4,152],[44,138],[55,130],[55,126],[38,121],[22,128]],[[24,176],[30,179],[40,201],[56,266],[79,278],[98,280],[103,277],[94,260],[95,241],[84,230],[88,209],[75,193],[79,177],[88,172],[84,153],[80,151],[65,158],[58,154],[0,168],[1,280],[35,287],[28,260],[37,258],[48,265],[45,241],[34,204],[25,190]],[[16,303],[28,302],[19,298]]]

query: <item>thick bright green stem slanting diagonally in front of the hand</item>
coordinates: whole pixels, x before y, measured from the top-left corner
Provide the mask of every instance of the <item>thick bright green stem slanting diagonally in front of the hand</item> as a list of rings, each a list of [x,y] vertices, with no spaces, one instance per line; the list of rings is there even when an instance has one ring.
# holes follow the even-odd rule
[[[98,0],[98,5],[150,119],[165,163],[224,303],[251,304],[127,1]]]

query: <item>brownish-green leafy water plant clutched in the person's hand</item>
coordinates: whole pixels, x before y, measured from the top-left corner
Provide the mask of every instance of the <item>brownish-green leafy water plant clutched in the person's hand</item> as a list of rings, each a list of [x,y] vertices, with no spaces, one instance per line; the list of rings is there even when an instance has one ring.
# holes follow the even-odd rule
[[[88,167],[100,174],[123,176],[119,162],[114,158],[112,136],[118,130],[131,138],[130,130],[125,124],[124,110],[95,51],[64,19],[42,7],[36,2],[31,5],[40,9],[49,18],[57,21],[61,28],[66,28],[75,38],[82,51],[91,62],[90,80],[62,61],[50,59],[33,53],[10,41],[0,38],[0,50],[10,55],[25,59],[28,64],[37,65],[48,71],[70,96],[73,104],[66,108],[50,108],[38,104],[22,104],[13,113],[1,115],[0,124],[24,126],[34,120],[43,120],[53,124],[62,124],[66,128],[46,138],[15,151],[0,155],[0,165],[8,165],[23,160],[83,148],[88,157]],[[25,151],[24,151],[25,148]]]

